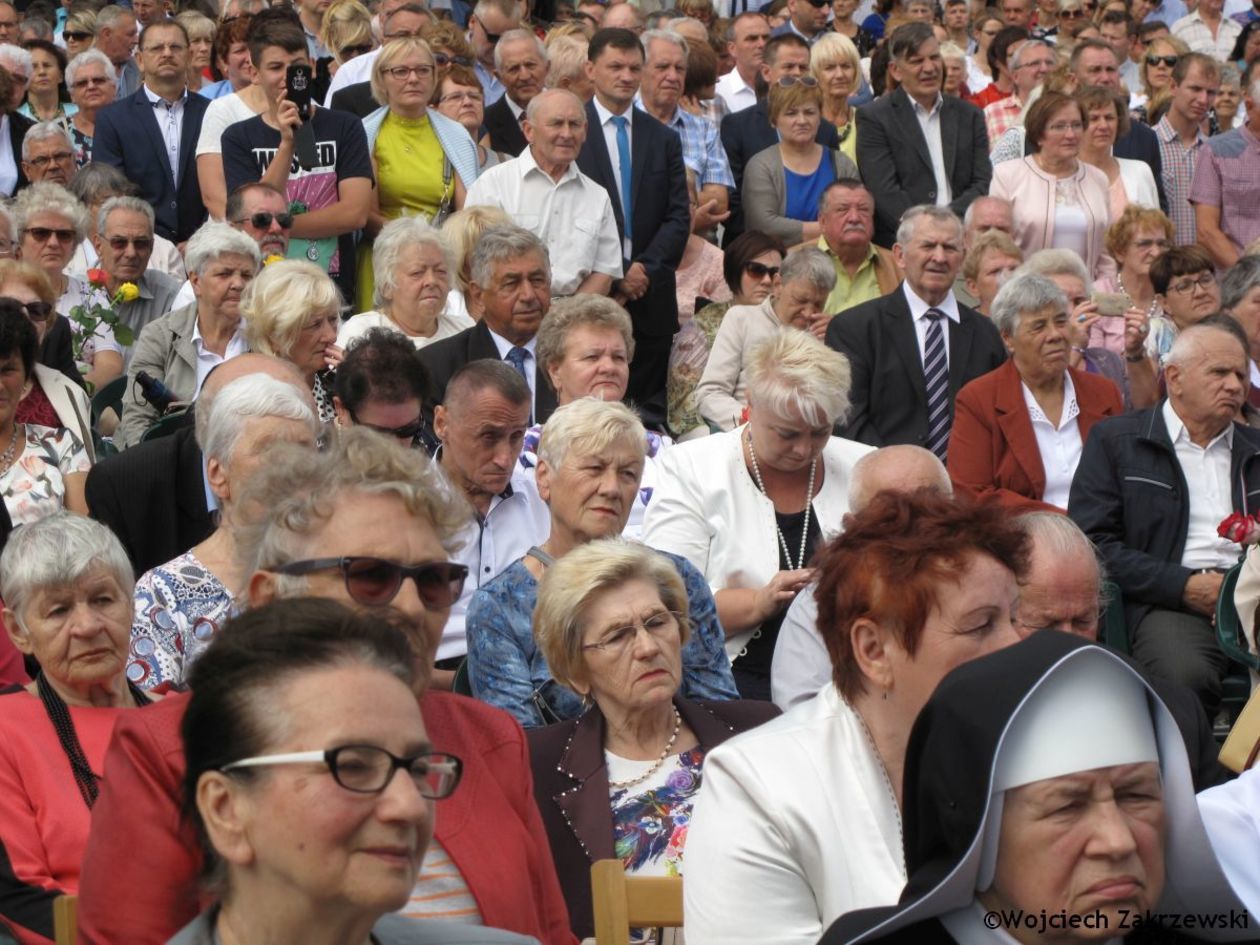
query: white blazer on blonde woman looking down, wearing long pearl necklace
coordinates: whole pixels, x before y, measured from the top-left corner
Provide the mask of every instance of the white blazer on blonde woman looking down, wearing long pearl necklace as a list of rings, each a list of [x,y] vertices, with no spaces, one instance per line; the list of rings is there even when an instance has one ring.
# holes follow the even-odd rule
[[[685,444],[658,456],[656,491],[644,517],[643,543],[682,554],[713,592],[764,587],[779,571],[775,505],[757,489],[743,464],[743,426]],[[814,513],[823,539],[840,530],[849,510],[853,464],[874,447],[833,436],[823,447],[823,488]],[[733,660],[757,630],[727,638]]]

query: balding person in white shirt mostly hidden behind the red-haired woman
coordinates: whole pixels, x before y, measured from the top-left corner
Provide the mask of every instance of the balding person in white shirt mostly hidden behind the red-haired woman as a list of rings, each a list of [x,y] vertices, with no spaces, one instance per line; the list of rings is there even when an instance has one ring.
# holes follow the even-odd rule
[[[849,481],[849,509],[859,512],[883,491],[910,493],[935,489],[954,494],[944,464],[921,446],[885,446],[853,464]],[[818,633],[818,601],[814,581],[796,595],[784,616],[770,665],[771,697],[786,712],[796,703],[814,698],[832,680],[832,658]]]

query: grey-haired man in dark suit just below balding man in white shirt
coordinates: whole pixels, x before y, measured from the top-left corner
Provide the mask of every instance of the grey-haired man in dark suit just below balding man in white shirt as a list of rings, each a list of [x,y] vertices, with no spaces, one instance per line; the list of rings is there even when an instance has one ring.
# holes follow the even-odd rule
[[[425,399],[431,423],[433,406],[446,398],[446,384],[461,367],[483,358],[505,360],[533,393],[530,423],[544,423],[556,410],[556,392],[538,368],[536,335],[551,310],[551,265],[543,242],[520,227],[488,229],[472,251],[469,292],[485,314],[472,328],[435,341],[420,352],[432,378]]]

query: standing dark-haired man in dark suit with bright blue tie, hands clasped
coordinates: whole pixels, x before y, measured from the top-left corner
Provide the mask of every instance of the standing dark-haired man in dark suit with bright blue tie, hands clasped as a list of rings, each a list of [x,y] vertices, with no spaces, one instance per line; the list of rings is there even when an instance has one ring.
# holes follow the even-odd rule
[[[601,29],[587,55],[595,98],[586,105],[577,166],[609,192],[621,236],[625,276],[612,284],[612,297],[634,324],[626,393],[640,404],[660,402],[678,331],[674,271],[690,233],[683,145],[677,132],[634,107],[644,63],[639,37]]]

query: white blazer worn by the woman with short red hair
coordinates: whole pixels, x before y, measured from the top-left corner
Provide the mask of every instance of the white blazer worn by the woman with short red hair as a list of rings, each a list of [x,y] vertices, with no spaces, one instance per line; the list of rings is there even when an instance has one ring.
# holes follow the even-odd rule
[[[834,685],[704,759],[687,828],[687,945],[814,945],[906,885],[901,819]]]

